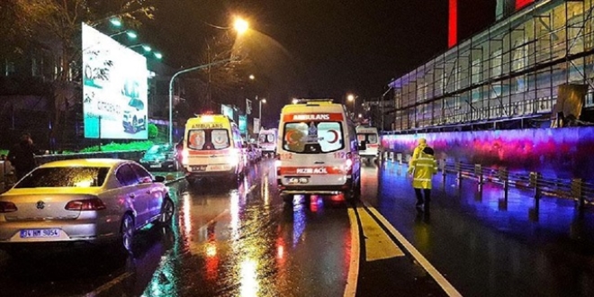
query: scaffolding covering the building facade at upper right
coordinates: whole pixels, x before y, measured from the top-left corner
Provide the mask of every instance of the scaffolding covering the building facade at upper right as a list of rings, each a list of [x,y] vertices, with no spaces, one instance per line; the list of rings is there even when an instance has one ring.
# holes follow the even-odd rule
[[[559,85],[588,85],[594,0],[543,0],[393,80],[394,132],[525,128],[550,120]]]

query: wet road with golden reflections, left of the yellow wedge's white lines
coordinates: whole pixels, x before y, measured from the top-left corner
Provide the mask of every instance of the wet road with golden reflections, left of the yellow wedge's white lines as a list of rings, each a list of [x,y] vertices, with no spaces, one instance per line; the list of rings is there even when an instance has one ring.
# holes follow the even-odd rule
[[[140,230],[130,257],[94,249],[9,260],[0,265],[2,294],[341,294],[350,250],[344,197],[298,195],[285,204],[271,165],[253,166],[237,183],[172,185],[178,215],[169,227]]]

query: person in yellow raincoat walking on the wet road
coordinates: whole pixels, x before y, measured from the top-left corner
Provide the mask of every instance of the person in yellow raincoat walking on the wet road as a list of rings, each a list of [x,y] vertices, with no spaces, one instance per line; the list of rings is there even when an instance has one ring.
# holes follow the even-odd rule
[[[437,161],[433,148],[425,145],[419,155],[410,159],[409,174],[412,175],[412,187],[417,196],[417,208],[429,209],[431,202],[431,178],[437,174]]]

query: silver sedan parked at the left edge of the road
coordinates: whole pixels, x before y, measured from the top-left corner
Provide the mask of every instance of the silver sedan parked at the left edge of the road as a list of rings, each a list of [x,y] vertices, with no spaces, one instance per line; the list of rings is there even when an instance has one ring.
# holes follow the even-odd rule
[[[0,248],[117,242],[130,252],[136,230],[174,215],[164,180],[130,160],[43,164],[0,195]]]

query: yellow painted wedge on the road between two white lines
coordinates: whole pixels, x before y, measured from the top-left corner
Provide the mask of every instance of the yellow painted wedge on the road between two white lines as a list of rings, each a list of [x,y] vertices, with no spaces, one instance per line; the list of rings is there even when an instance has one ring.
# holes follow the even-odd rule
[[[363,208],[359,209],[361,227],[365,235],[365,260],[367,262],[402,257],[404,253],[392,241],[388,234]]]

